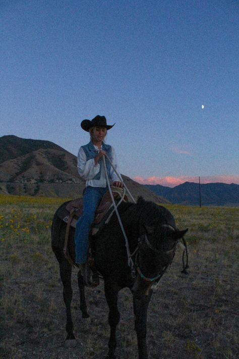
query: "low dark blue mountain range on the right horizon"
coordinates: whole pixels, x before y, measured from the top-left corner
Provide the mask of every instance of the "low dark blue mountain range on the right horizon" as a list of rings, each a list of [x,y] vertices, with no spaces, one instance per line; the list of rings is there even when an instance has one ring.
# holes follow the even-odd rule
[[[199,204],[199,184],[185,182],[170,188],[159,184],[146,184],[159,196],[168,199],[172,203]],[[202,206],[239,206],[239,185],[225,183],[201,184]]]

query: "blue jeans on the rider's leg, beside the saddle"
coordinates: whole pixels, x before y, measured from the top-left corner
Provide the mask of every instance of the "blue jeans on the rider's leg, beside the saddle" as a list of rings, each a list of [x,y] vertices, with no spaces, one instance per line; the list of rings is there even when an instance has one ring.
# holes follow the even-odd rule
[[[89,231],[94,221],[95,211],[106,193],[107,187],[91,187],[85,188],[83,194],[83,214],[76,223],[75,232],[75,251],[76,263],[86,263],[89,250]]]

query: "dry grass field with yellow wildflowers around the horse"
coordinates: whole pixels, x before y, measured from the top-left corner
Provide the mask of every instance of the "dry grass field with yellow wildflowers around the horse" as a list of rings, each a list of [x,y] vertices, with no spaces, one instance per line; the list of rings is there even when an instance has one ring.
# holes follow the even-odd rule
[[[0,196],[0,357],[102,359],[107,353],[108,308],[102,282],[86,289],[89,319],[79,309],[73,270],[77,346],[66,348],[65,304],[50,226],[62,199]],[[151,359],[239,357],[238,208],[166,205],[179,228],[189,228],[189,275],[182,249],[154,290],[148,310]],[[132,299],[120,293],[116,355],[137,358]]]

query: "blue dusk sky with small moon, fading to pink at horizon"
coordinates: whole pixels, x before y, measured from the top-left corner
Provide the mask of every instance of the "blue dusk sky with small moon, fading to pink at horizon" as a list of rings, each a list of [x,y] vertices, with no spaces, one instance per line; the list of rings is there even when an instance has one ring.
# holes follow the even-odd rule
[[[2,0],[0,136],[77,155],[104,115],[124,175],[239,184],[238,19],[238,0]]]

